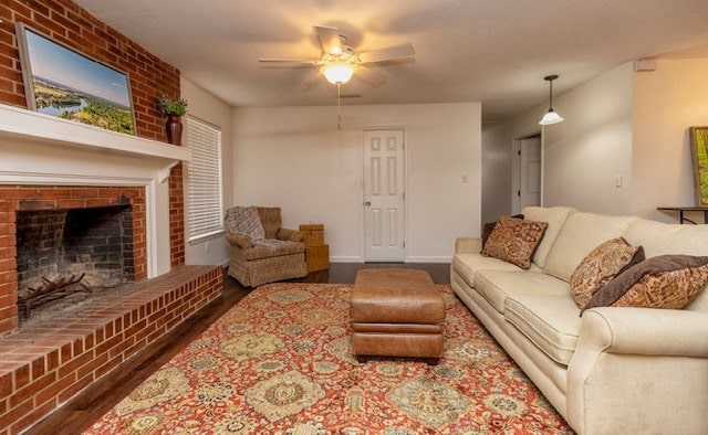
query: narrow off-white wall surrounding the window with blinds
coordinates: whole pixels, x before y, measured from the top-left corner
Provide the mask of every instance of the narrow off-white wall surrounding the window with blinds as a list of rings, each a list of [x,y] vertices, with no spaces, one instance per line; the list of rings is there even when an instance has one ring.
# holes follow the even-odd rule
[[[206,120],[221,128],[221,158],[223,173],[223,206],[225,210],[233,203],[233,178],[231,170],[232,161],[232,125],[231,125],[231,106],[227,105],[219,98],[207,93],[202,88],[192,84],[185,77],[179,79],[181,97],[187,99],[188,115]],[[185,193],[187,192],[187,168],[185,174]],[[185,219],[189,219],[189,204],[185,198]],[[185,225],[186,226],[186,225]],[[185,240],[188,237],[185,235]],[[227,264],[229,261],[229,244],[220,234],[212,238],[198,241],[195,243],[186,242],[185,262],[187,264]]]

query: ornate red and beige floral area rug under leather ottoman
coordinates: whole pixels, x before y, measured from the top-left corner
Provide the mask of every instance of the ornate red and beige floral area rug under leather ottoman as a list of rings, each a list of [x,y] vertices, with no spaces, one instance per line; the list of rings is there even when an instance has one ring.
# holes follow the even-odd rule
[[[572,433],[449,286],[445,353],[360,364],[351,285],[253,290],[87,434]]]

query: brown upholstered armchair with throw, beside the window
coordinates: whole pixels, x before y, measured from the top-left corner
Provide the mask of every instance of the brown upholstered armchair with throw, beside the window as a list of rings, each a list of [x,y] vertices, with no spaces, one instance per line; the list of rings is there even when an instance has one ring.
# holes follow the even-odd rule
[[[281,227],[280,208],[233,206],[226,212],[229,275],[246,287],[308,275],[302,233]]]

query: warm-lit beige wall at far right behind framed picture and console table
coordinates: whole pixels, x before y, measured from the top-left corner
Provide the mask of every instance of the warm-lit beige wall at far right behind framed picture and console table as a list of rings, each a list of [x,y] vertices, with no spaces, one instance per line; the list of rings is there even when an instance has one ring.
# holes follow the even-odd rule
[[[676,223],[656,208],[696,204],[688,127],[708,125],[706,71],[708,59],[660,60],[634,74],[633,214]]]

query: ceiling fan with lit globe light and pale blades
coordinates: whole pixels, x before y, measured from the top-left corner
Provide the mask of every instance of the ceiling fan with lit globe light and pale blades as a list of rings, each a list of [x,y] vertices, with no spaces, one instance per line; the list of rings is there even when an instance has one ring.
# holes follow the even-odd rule
[[[305,88],[315,86],[320,82],[320,74],[334,85],[345,84],[353,74],[356,74],[364,82],[377,86],[385,83],[388,77],[371,70],[371,66],[383,62],[409,60],[416,54],[409,43],[356,53],[347,45],[346,36],[340,34],[339,29],[315,25],[314,30],[322,47],[320,59],[266,57],[258,61],[277,67],[319,66],[317,74],[305,82]]]

